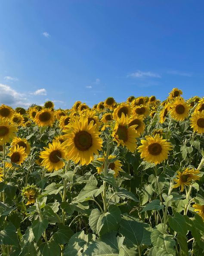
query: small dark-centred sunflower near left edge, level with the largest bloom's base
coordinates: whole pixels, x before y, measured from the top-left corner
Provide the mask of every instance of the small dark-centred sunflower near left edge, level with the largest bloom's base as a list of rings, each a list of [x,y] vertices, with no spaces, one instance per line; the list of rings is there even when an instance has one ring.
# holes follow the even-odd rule
[[[16,145],[10,148],[10,153],[8,154],[8,156],[11,158],[11,162],[6,163],[6,167],[12,168],[12,163],[21,165],[28,155],[25,153],[24,147],[19,147],[19,145]]]

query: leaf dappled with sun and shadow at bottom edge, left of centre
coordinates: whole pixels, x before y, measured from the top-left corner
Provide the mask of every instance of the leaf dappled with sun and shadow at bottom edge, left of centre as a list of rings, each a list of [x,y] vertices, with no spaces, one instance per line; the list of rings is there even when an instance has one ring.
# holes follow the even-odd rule
[[[95,239],[94,234],[86,235],[84,231],[77,232],[65,247],[64,256],[81,256]]]

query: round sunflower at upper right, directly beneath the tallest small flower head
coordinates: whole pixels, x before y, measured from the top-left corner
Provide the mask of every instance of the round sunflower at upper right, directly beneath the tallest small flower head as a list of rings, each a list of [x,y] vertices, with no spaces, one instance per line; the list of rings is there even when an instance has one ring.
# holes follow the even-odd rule
[[[189,106],[182,97],[177,97],[171,105],[170,114],[176,121],[183,121],[189,115]]]

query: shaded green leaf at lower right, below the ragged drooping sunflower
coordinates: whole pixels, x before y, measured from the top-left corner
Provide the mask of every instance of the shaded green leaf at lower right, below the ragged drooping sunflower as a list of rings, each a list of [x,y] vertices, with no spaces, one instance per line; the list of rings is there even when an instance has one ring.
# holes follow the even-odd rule
[[[185,218],[178,212],[176,212],[176,214],[173,217],[169,217],[169,224],[174,231],[176,231],[177,233],[181,234],[184,237],[188,233]]]

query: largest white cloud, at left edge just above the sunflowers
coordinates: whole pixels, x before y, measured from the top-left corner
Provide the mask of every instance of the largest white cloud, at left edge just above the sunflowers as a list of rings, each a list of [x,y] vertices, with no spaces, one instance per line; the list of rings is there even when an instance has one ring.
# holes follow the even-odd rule
[[[16,92],[6,84],[0,83],[0,92],[0,103],[2,104],[12,107],[28,107],[31,105],[31,103],[28,102],[28,99],[25,98],[24,94]]]

